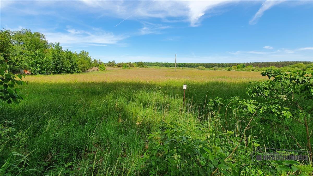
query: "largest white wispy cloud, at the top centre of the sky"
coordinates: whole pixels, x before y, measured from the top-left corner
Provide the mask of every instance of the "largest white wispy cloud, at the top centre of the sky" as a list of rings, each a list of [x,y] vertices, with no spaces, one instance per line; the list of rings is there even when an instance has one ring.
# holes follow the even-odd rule
[[[181,18],[177,21],[189,22],[190,26],[198,26],[204,14],[215,13],[214,9],[223,7],[226,4],[237,3],[238,1],[215,0],[215,1],[82,1],[85,5],[99,8],[102,11],[111,11],[118,17],[123,18],[120,22],[131,18]],[[108,15],[103,13],[100,17]],[[171,20],[169,20],[171,21]],[[117,25],[119,25],[118,23]],[[116,25],[116,26],[117,26]]]

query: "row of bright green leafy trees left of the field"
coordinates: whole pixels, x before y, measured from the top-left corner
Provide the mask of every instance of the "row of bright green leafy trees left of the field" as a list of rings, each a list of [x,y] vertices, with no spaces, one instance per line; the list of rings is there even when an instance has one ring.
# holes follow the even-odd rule
[[[33,74],[80,73],[93,66],[105,69],[105,64],[91,58],[88,52],[64,50],[60,43],[48,43],[44,34],[27,29],[0,30],[0,60],[13,73],[23,70]]]

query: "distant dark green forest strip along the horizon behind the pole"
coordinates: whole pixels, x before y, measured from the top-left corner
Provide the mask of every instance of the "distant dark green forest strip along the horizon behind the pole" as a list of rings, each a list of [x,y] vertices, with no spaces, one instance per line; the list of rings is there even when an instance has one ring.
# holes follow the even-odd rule
[[[176,63],[177,67],[198,67],[203,66],[206,68],[212,68],[212,67],[231,67],[234,65],[251,65],[252,67],[285,67],[288,65],[293,64],[311,64],[313,62],[309,61],[283,61],[283,62],[246,62],[246,63]],[[147,66],[159,66],[159,67],[175,67],[175,63],[169,63],[169,62],[144,62],[144,65]],[[245,67],[244,66],[244,67]]]

